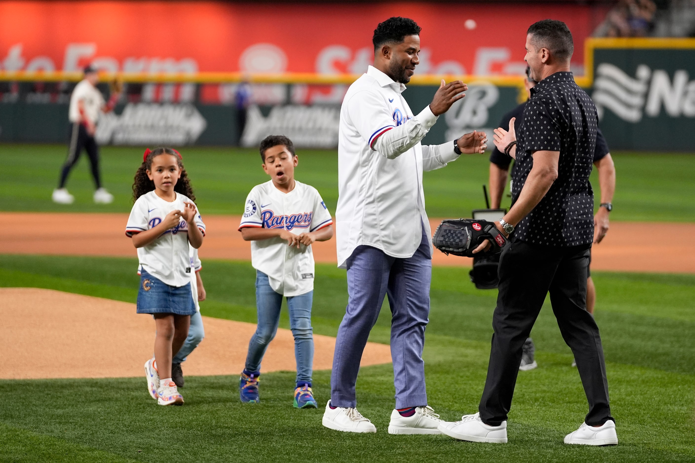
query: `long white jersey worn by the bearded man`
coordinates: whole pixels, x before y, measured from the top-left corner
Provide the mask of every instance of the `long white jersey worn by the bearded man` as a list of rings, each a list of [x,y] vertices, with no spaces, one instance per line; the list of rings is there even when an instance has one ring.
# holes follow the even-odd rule
[[[405,85],[370,66],[345,94],[338,132],[338,267],[357,246],[409,258],[422,241],[423,170],[456,160],[453,142],[423,146],[437,116],[430,106],[414,116],[402,96]]]

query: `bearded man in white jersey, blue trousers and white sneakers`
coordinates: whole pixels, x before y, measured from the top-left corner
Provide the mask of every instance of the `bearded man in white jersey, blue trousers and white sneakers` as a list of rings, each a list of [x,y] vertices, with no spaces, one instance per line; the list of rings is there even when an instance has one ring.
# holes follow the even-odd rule
[[[474,131],[441,145],[420,144],[468,87],[442,81],[432,103],[418,115],[411,112],[402,92],[420,62],[419,33],[412,19],[392,17],[379,24],[374,66],[350,85],[341,108],[336,244],[349,298],[323,416],[323,425],[335,430],[376,432],[355,408],[355,382],[388,294],[396,399],[389,432],[439,434],[439,415],[427,406],[422,360],[432,277],[423,170],[444,167],[461,153],[482,153],[486,140]]]

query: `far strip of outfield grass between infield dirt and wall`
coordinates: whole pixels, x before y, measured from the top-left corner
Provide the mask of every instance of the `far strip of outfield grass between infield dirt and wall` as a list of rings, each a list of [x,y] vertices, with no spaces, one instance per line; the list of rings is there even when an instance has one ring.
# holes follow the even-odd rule
[[[92,203],[92,180],[86,156],[68,181],[73,205],[51,202],[65,146],[0,145],[0,210],[129,212],[133,176],[142,149],[106,146],[102,153],[104,185],[115,194],[111,205]],[[181,150],[203,214],[241,214],[246,195],[268,177],[256,150],[190,147]],[[329,210],[338,200],[338,160],[335,151],[298,151],[296,177],[316,187]],[[614,220],[695,221],[695,156],[689,154],[613,153],[617,170]],[[488,182],[487,155],[462,156],[448,167],[425,172],[430,217],[469,217],[484,208],[482,184]],[[591,183],[598,192],[596,173]],[[597,195],[598,199],[598,195]],[[502,202],[509,206],[509,198]],[[596,205],[598,206],[596,201]]]

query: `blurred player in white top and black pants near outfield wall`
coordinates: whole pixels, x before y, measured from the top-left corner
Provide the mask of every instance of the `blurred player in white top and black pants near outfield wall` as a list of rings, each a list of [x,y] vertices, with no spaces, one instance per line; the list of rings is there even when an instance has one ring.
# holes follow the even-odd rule
[[[74,196],[67,192],[65,182],[70,171],[79,161],[82,150],[87,151],[90,164],[92,166],[92,177],[96,191],[94,192],[94,202],[108,204],[113,201],[113,195],[101,186],[101,174],[99,172],[99,145],[95,140],[97,131],[97,121],[101,112],[109,112],[116,106],[120,98],[120,84],[113,85],[111,98],[108,103],[104,101],[104,96],[97,89],[99,73],[97,68],[88,65],[84,69],[84,78],[75,85],[75,89],[70,96],[70,144],[67,150],[67,159],[60,172],[60,183],[58,188],[53,190],[53,201],[59,204],[72,204]]]

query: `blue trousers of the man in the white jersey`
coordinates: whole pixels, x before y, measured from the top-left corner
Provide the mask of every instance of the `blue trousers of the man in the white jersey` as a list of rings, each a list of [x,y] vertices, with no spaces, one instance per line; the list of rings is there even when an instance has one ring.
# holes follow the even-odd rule
[[[357,405],[359,362],[386,294],[391,306],[395,407],[427,405],[423,347],[430,321],[430,250],[423,227],[420,247],[411,258],[393,258],[372,246],[357,246],[347,259],[347,308],[333,357],[331,405]]]

